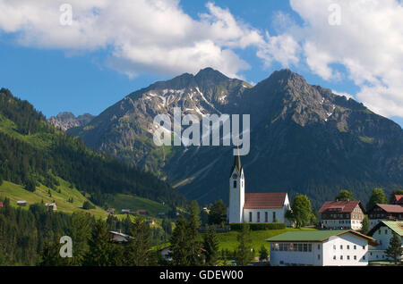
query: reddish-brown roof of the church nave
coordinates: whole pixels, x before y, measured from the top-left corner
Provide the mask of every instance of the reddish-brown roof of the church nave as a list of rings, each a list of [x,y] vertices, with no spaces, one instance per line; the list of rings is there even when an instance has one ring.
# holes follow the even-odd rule
[[[245,193],[244,209],[282,208],[287,193]]]

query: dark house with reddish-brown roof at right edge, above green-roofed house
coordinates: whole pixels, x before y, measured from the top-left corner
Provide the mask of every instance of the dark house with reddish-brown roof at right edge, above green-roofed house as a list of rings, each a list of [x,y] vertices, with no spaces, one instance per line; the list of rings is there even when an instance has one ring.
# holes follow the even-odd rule
[[[370,220],[370,230],[380,221],[403,221],[402,205],[374,205],[368,212]]]

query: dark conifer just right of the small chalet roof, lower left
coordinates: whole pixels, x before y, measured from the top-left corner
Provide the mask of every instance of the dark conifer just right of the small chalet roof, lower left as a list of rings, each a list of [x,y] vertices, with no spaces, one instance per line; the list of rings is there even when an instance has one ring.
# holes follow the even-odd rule
[[[124,255],[129,266],[150,265],[150,225],[140,218],[132,224],[131,235]]]

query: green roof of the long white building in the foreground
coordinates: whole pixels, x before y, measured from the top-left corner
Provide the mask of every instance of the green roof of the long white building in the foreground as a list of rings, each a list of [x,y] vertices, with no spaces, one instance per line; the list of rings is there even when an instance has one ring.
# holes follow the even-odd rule
[[[294,230],[267,238],[268,242],[323,242],[330,237],[341,236],[347,233],[354,234],[360,238],[367,239],[371,245],[376,246],[375,239],[365,236],[355,230]]]

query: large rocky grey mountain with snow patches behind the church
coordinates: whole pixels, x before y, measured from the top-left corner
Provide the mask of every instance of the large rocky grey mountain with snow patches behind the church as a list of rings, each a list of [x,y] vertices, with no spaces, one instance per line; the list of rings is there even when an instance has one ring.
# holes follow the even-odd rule
[[[307,194],[313,204],[341,188],[366,200],[374,187],[403,186],[403,132],[364,104],[312,86],[290,70],[252,87],[210,68],[125,96],[68,132],[91,148],[155,172],[201,204],[227,201],[230,146],[155,146],[153,118],[183,113],[250,114],[251,150],[242,158],[246,192]]]

